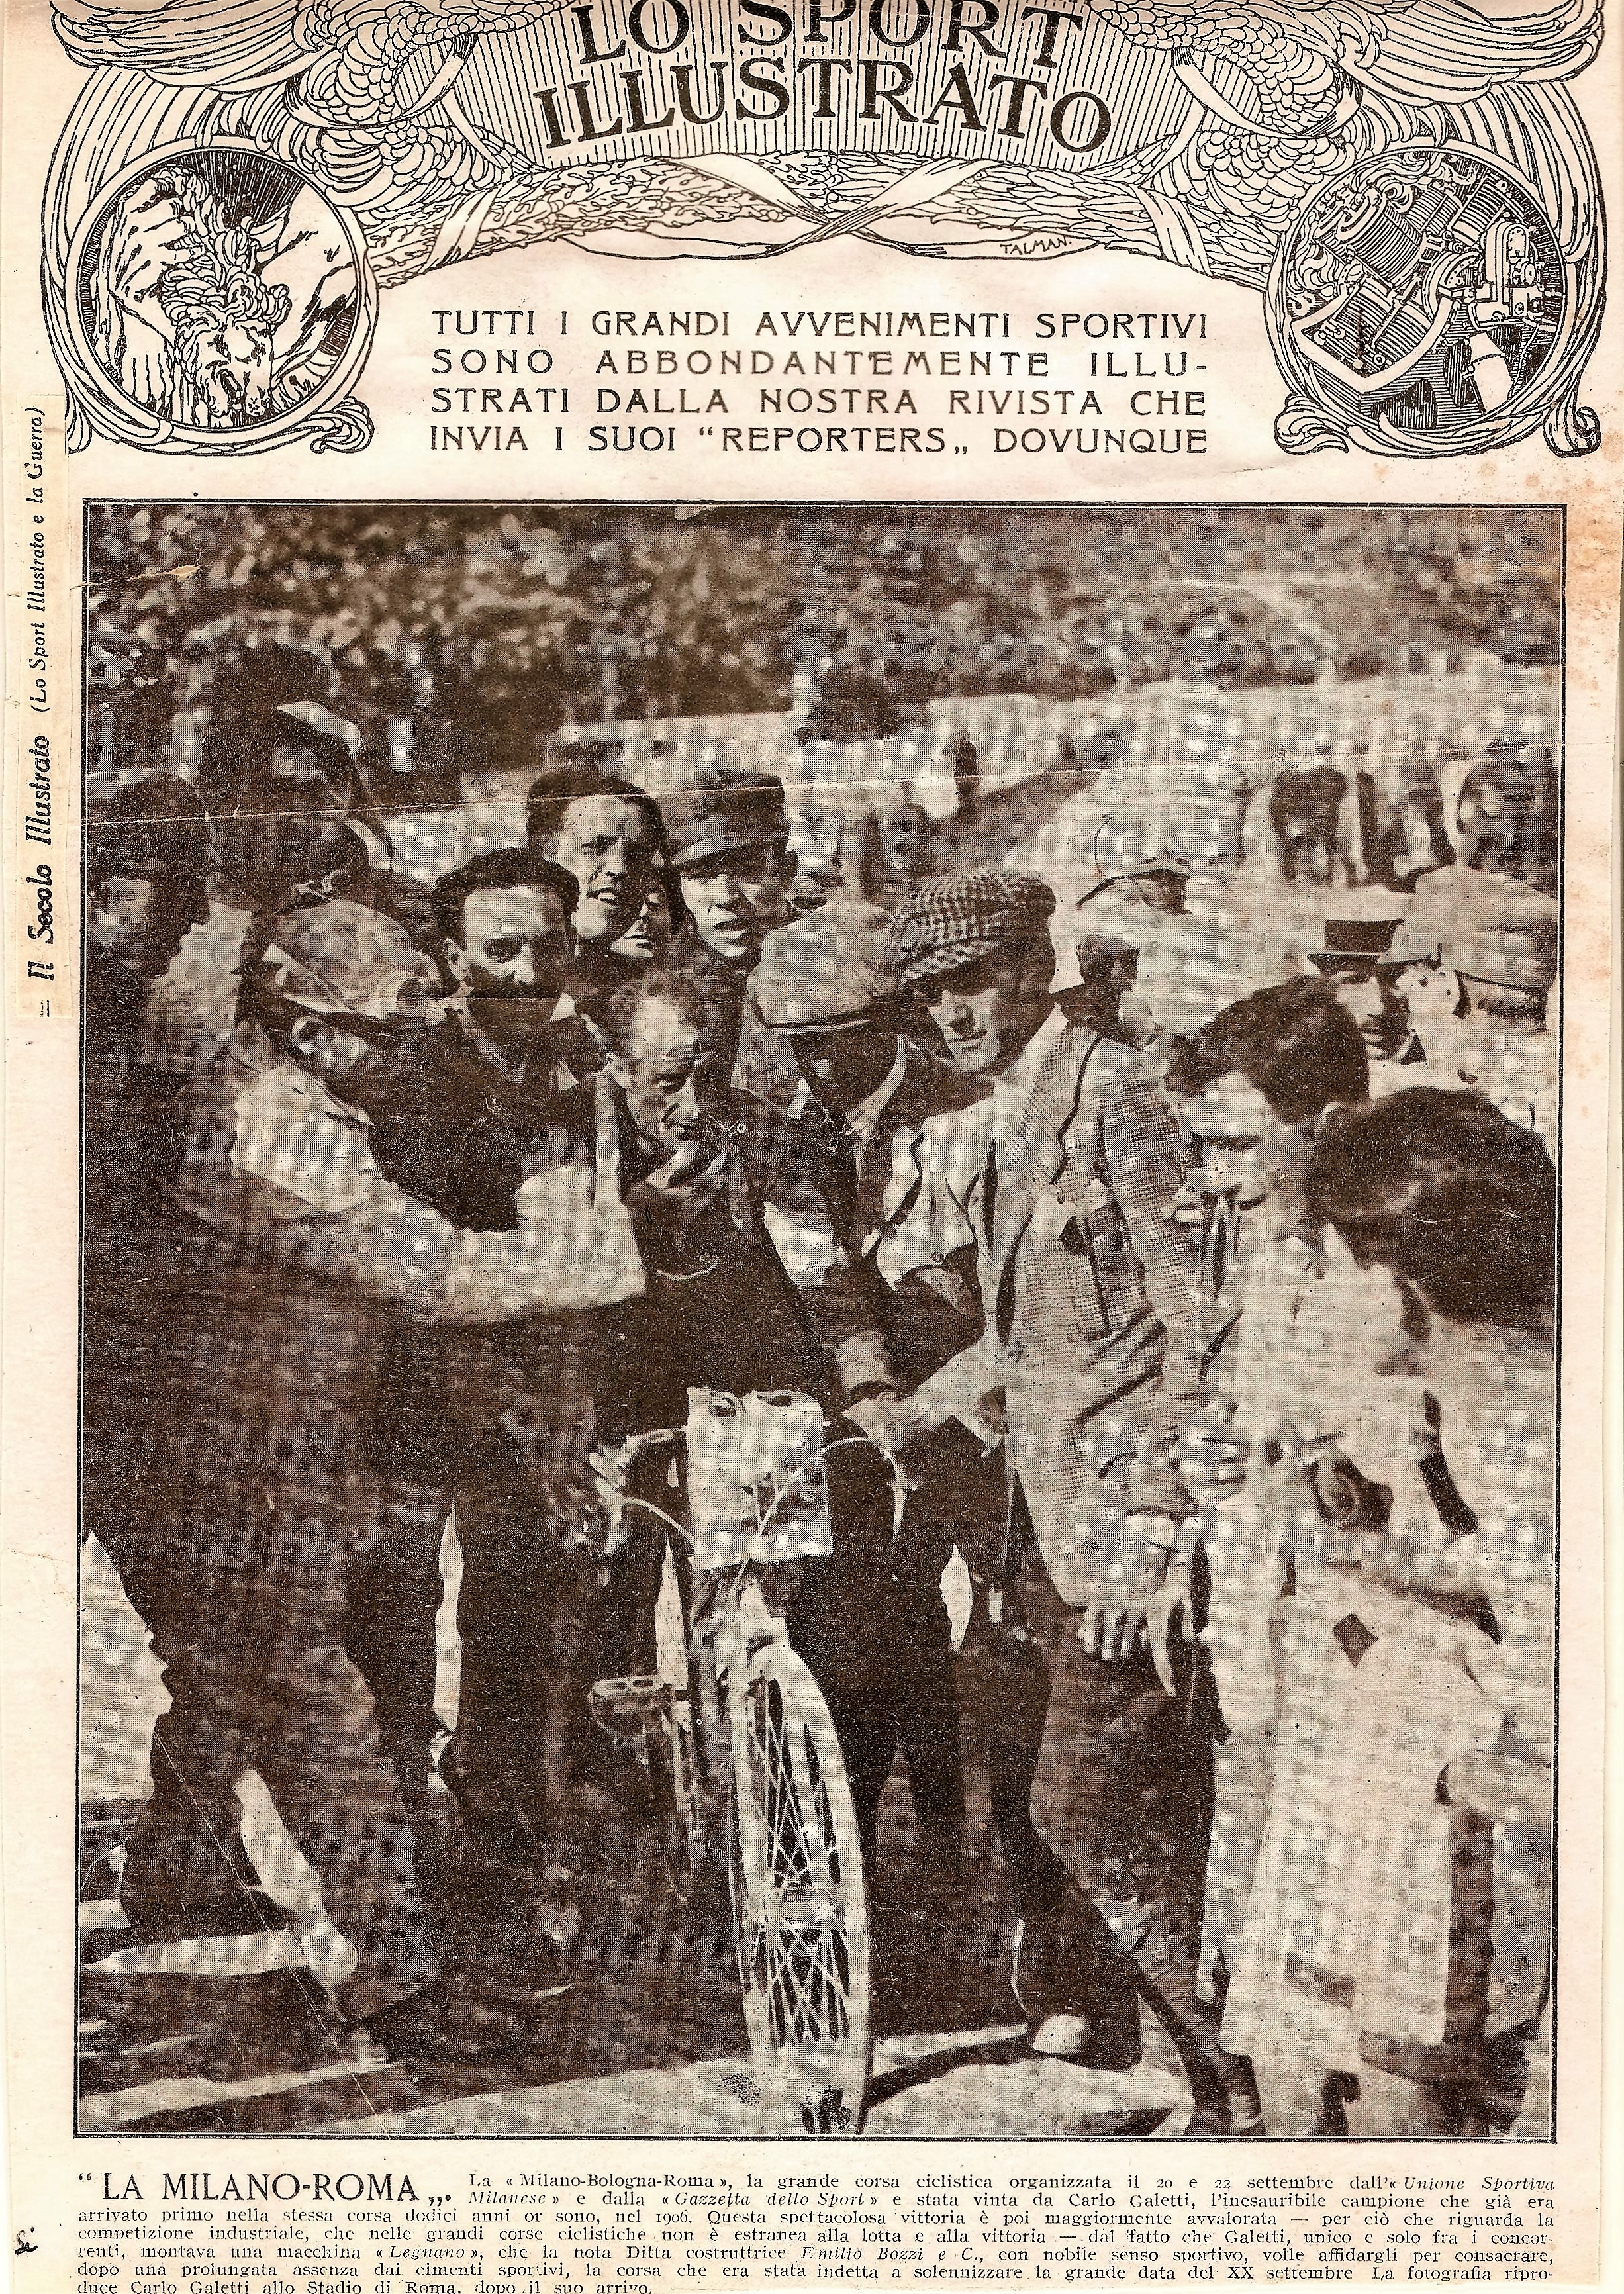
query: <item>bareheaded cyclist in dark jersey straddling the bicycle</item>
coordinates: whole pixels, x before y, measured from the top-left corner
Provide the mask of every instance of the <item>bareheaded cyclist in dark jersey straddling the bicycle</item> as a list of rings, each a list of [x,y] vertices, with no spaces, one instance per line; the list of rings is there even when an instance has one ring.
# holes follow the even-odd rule
[[[897,1399],[872,1292],[842,1248],[819,1175],[775,1106],[729,1085],[736,1016],[693,973],[654,968],[617,989],[601,1025],[610,1062],[557,1099],[530,1149],[534,1172],[592,1165],[617,1184],[649,1289],[635,1312],[578,1324],[585,1386],[606,1441],[677,1427],[688,1388],[794,1390],[872,1438]],[[608,1126],[606,1119],[608,1117]],[[608,1129],[612,1156],[603,1158]],[[885,1606],[890,1477],[872,1450],[830,1454],[835,1558],[791,1592],[796,1647],[828,1698],[851,1773],[865,1849],[890,1766]],[[647,1542],[615,1565],[608,1608],[619,1633],[603,1672],[635,1670],[633,1620],[647,1606]]]

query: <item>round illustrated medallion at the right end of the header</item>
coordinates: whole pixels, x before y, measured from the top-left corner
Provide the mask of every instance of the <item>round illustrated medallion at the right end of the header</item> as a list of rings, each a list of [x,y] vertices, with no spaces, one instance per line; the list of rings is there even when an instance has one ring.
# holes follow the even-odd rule
[[[1266,307],[1305,418],[1319,408],[1383,452],[1459,454],[1544,418],[1569,301],[1532,188],[1484,151],[1429,142],[1303,206]]]

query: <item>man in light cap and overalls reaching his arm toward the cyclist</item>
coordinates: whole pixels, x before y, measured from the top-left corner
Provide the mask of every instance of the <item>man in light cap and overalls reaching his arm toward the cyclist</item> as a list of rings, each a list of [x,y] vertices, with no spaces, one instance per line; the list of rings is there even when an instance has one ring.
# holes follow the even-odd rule
[[[642,1292],[619,1197],[525,1186],[512,1232],[454,1227],[383,1177],[374,1117],[440,1023],[427,957],[328,902],[278,920],[225,1051],[177,1099],[158,1175],[147,1395],[147,1622],[170,1711],[128,1840],[131,1922],[229,1913],[232,1808],[255,1766],[356,1950],[337,2007],[397,2055],[475,2060],[509,2014],[450,1998],[427,1938],[401,1780],[344,1647],[356,1468],[397,1326],[470,1331]],[[195,1810],[218,1810],[197,1860]]]

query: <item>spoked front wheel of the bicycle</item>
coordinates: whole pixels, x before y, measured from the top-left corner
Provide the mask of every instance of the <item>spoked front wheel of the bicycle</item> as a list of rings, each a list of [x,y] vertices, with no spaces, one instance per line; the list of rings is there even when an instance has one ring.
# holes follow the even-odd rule
[[[734,1948],[764,2115],[856,2136],[869,2078],[869,1897],[823,1693],[782,1640],[729,1698]]]

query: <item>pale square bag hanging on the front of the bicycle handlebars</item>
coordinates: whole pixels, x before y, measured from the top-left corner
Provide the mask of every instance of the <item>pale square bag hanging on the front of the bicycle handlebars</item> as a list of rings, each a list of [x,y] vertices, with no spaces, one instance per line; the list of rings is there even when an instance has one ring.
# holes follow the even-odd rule
[[[695,1569],[805,1562],[835,1551],[823,1411],[810,1395],[688,1388]]]

